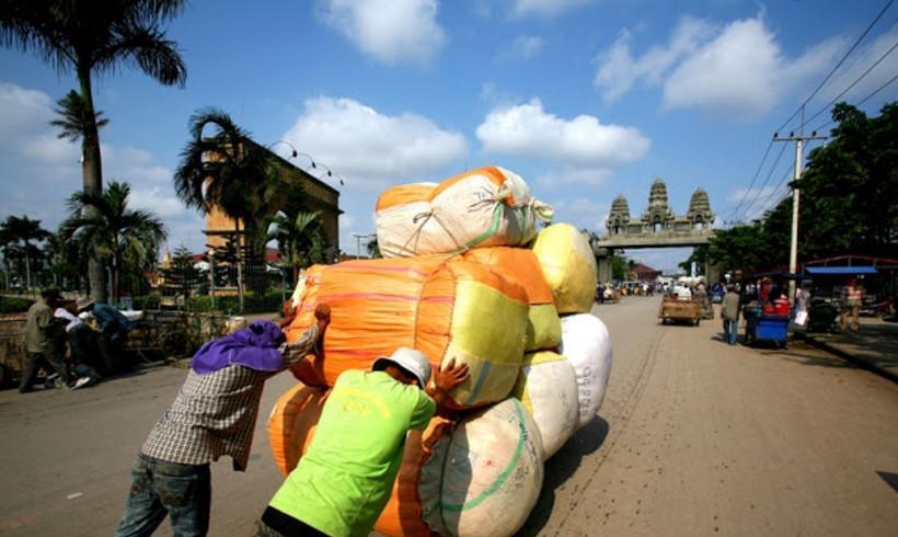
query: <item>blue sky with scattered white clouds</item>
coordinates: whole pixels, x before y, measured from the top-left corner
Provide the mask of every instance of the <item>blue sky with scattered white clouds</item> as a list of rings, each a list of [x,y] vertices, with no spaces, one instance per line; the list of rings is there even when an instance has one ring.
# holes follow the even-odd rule
[[[773,168],[779,144],[746,192],[773,130],[886,3],[196,0],[168,31],[187,65],[186,88],[126,69],[95,81],[95,103],[111,119],[101,133],[104,176],[131,183],[134,203],[166,220],[171,249],[200,251],[202,218],[174,197],[172,172],[189,115],[217,106],[258,142],[288,140],[344,179],[324,178],[341,191],[348,253],[352,233],[375,231],[387,186],[490,163],[521,174],[556,221],[599,232],[617,194],[638,217],[655,176],[678,214],[701,186],[718,224],[749,219],[787,193],[792,148]],[[897,41],[893,7],[807,114]],[[896,73],[893,52],[844,99],[857,102]],[[65,198],[81,185],[79,149],[47,122],[74,85],[32,55],[0,49],[0,218],[27,214],[54,229],[65,216]],[[862,108],[875,114],[896,98],[898,82]],[[688,254],[628,252],[659,268]]]

